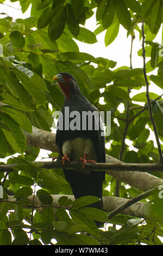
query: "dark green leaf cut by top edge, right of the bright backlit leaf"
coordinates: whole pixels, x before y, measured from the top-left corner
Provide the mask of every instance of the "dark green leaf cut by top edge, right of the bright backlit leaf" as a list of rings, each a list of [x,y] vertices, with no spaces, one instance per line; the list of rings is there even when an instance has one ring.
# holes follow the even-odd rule
[[[123,0],[116,0],[116,13],[121,25],[129,30],[131,26],[131,16]]]

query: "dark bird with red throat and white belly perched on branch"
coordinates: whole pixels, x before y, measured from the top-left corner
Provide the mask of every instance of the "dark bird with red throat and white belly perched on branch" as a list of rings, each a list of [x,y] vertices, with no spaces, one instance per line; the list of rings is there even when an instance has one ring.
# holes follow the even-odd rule
[[[82,169],[80,170],[63,169],[66,180],[70,183],[76,199],[83,196],[96,196],[100,200],[88,206],[102,210],[102,191],[105,172],[84,169],[86,162],[91,162],[93,165],[96,162],[105,163],[105,137],[101,135],[103,126],[96,126],[98,125],[98,118],[96,117],[99,117],[98,109],[91,105],[89,100],[80,91],[76,78],[71,74],[59,72],[53,76],[54,81],[57,81],[64,94],[64,105],[61,110],[62,129],[59,129],[59,125],[57,125],[55,138],[55,143],[59,148],[59,155],[62,156],[62,165],[64,166],[66,161],[81,161],[83,163]],[[65,129],[66,120],[68,120],[68,125],[73,120],[72,117],[67,116],[67,112],[65,111],[67,107],[69,113],[79,113],[80,119],[78,118],[76,120],[76,126],[79,129],[77,127],[73,127],[73,129],[68,127],[68,129]],[[89,123],[89,117],[86,118],[85,125],[83,115],[85,112],[95,113],[95,115],[92,114],[92,129],[89,129],[89,124],[87,124]],[[85,125],[85,127],[82,125]],[[54,157],[54,159],[56,158]],[[95,221],[95,223],[98,228],[103,224],[98,221]]]

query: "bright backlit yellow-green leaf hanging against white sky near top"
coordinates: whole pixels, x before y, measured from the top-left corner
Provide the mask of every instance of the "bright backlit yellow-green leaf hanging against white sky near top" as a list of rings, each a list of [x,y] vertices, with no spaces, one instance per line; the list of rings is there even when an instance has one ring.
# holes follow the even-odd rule
[[[107,28],[105,39],[104,39],[105,46],[110,45],[115,40],[119,31],[119,28],[120,28],[120,23],[118,22],[118,20],[112,22],[111,26]]]

